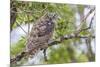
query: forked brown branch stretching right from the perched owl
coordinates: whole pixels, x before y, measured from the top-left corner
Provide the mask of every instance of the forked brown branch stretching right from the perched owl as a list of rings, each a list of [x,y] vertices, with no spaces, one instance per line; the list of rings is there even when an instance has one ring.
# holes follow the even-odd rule
[[[89,11],[89,13],[86,15],[86,17],[82,19],[80,26],[82,26],[83,21],[85,21],[85,20],[87,19],[87,17],[88,17],[94,10],[95,10],[95,8],[93,8],[93,9],[91,9],[91,10]],[[85,30],[88,30],[88,29],[91,28],[91,26],[92,26],[92,21],[93,21],[93,19],[94,19],[94,16],[95,16],[95,13],[94,13],[93,17],[91,18],[89,27],[84,28],[84,29],[81,29],[81,27],[80,27],[79,30],[75,31],[75,32],[74,32],[73,34],[71,34],[71,35],[64,35],[64,36],[59,37],[59,38],[57,39],[57,41],[48,42],[49,46],[56,45],[56,44],[58,44],[58,43],[61,43],[63,40],[68,40],[68,39],[72,39],[72,38],[88,38],[88,37],[90,37],[90,36],[80,36],[79,33],[82,32],[82,31],[85,31]],[[92,37],[92,38],[95,38],[95,36],[91,36],[91,37]],[[58,41],[58,40],[59,40],[59,41]]]

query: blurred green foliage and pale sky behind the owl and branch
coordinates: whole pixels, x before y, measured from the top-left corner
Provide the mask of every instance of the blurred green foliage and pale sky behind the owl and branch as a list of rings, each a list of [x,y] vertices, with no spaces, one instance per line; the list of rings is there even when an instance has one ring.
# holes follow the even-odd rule
[[[71,38],[50,46],[47,49],[48,61],[44,60],[43,51],[34,58],[23,59],[19,65],[34,64],[62,64],[95,61],[95,10],[94,5],[60,4],[43,2],[11,1],[10,3],[10,33],[11,58],[25,48],[25,42],[32,25],[46,12],[57,13],[60,17],[56,21],[52,39],[60,36],[70,36],[77,29],[85,29],[78,35],[86,38]],[[85,18],[85,19],[84,19]],[[84,21],[83,21],[84,20]],[[80,24],[82,24],[80,26]]]

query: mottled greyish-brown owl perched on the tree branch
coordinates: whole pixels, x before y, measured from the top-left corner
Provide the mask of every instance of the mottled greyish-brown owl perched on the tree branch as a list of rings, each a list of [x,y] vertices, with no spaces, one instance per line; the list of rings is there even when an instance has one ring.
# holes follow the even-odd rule
[[[26,43],[27,52],[33,49],[31,54],[35,54],[38,50],[48,47],[48,41],[54,29],[55,18],[55,14],[46,13],[33,25]]]

